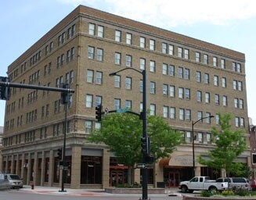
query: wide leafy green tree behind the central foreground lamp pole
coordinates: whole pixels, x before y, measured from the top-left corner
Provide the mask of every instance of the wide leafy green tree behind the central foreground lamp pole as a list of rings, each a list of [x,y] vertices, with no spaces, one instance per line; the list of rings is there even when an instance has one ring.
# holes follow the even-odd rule
[[[150,137],[150,152],[154,159],[168,156],[182,143],[182,134],[173,130],[161,116],[149,116],[147,134]],[[128,184],[136,163],[142,162],[142,120],[131,113],[109,114],[99,130],[88,136],[88,142],[105,144],[114,152],[117,162],[128,166]]]

